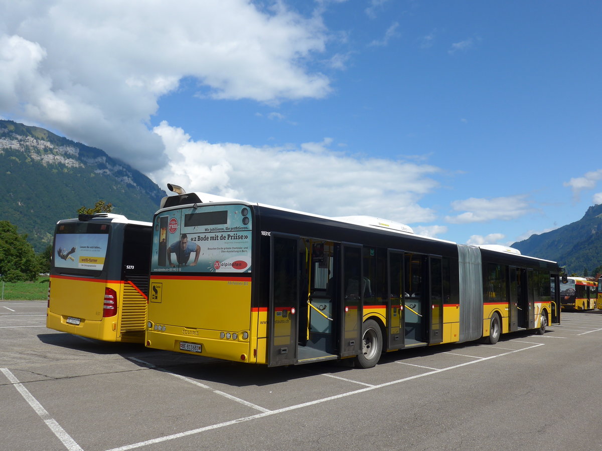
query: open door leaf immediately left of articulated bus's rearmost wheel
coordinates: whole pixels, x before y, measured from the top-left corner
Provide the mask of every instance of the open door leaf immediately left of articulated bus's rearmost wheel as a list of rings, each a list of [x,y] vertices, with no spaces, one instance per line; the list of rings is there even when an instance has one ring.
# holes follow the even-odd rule
[[[341,318],[340,357],[358,355],[361,349],[362,319],[364,317],[363,296],[366,281],[362,277],[362,247],[359,244],[344,243],[341,246],[343,265],[343,302],[338,314]]]

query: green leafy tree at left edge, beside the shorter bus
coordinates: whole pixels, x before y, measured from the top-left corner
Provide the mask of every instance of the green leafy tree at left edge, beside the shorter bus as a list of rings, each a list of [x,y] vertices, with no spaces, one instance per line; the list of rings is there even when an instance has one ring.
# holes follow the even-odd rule
[[[19,235],[9,221],[0,221],[0,279],[34,281],[38,272],[38,260],[27,235]]]

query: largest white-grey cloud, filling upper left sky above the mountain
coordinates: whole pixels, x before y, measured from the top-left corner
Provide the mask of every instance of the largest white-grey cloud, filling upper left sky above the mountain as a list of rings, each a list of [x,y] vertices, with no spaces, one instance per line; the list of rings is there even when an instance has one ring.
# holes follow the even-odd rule
[[[0,111],[149,171],[166,158],[147,124],[182,78],[215,99],[324,97],[308,63],[326,40],[320,15],[282,2],[2,2]]]

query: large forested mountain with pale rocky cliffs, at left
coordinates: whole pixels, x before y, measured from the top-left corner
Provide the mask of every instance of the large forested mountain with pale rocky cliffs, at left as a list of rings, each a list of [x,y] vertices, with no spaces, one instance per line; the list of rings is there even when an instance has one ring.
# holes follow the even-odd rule
[[[113,204],[113,213],[151,221],[166,193],[105,152],[40,127],[0,120],[0,220],[27,233],[36,252],[52,243],[59,219],[81,206]]]

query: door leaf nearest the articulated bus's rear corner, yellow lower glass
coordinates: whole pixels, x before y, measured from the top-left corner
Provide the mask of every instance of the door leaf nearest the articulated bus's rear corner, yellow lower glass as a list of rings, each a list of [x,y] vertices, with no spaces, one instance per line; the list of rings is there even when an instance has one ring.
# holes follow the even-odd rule
[[[299,325],[299,260],[297,236],[270,236],[270,307],[268,366],[297,363]]]

